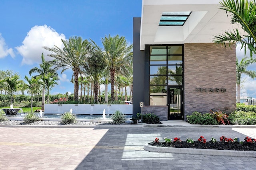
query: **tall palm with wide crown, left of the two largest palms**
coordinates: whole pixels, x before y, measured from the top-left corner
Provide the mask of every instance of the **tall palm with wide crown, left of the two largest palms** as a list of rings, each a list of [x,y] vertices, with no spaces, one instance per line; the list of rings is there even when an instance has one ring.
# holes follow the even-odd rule
[[[81,74],[81,68],[84,66],[86,57],[90,54],[91,45],[88,40],[82,41],[82,37],[70,37],[69,40],[62,39],[64,47],[60,49],[57,46],[52,48],[43,47],[53,53],[49,57],[56,59],[56,68],[62,69],[61,73],[71,68],[74,77],[74,99],[78,102],[78,76]]]

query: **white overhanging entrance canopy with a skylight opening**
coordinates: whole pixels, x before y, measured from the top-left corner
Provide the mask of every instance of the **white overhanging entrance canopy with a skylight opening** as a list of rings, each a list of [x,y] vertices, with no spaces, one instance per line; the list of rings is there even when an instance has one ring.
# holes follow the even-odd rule
[[[238,28],[219,2],[142,0],[140,50],[146,44],[212,43],[214,35]]]

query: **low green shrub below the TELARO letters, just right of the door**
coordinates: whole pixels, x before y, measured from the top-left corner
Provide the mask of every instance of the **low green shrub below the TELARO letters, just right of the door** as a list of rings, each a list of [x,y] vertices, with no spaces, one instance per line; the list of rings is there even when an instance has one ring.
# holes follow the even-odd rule
[[[192,115],[187,115],[188,123],[199,125],[218,125],[218,121],[212,117],[210,113],[199,113],[194,111]]]

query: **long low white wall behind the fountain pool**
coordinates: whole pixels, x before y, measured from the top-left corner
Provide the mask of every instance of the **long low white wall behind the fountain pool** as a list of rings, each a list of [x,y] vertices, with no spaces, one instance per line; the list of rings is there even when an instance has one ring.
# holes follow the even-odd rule
[[[66,111],[70,111],[75,114],[100,114],[102,115],[105,109],[106,114],[113,114],[116,110],[122,111],[126,115],[132,115],[132,105],[130,104],[45,104],[44,114],[62,114]]]

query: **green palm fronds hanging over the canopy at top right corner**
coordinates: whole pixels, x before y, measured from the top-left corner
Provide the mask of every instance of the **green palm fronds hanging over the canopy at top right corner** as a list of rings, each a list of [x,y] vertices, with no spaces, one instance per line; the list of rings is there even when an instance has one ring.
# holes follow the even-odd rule
[[[256,1],[223,0],[220,4],[222,5],[220,9],[231,13],[231,23],[240,24],[247,35],[242,37],[238,29],[233,29],[232,31],[224,31],[223,34],[214,36],[216,39],[214,42],[222,44],[224,47],[226,47],[226,42],[229,43],[229,46],[232,43],[240,42],[242,45],[241,49],[244,48],[246,54],[246,49],[248,48],[252,57],[252,54],[256,53]]]

